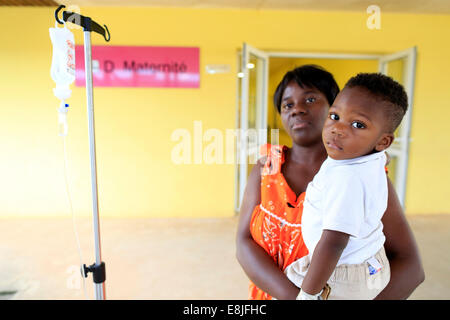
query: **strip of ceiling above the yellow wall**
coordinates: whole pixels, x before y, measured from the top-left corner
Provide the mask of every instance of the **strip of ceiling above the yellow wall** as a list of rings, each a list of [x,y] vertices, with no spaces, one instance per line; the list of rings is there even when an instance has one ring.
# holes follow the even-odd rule
[[[116,7],[246,8],[284,10],[366,11],[450,14],[450,0],[57,0],[65,5]]]

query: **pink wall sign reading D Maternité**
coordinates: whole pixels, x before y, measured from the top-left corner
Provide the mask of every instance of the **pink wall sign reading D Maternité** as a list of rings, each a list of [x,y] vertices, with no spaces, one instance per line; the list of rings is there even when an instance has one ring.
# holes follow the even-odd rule
[[[85,86],[84,48],[75,46],[76,86]],[[199,48],[92,46],[96,87],[198,88]]]

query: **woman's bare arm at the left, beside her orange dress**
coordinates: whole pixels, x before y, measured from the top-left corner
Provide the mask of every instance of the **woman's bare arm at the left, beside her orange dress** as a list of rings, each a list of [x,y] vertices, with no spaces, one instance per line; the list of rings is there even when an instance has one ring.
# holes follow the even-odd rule
[[[295,299],[300,289],[286,277],[250,233],[253,209],[261,203],[261,169],[262,165],[258,162],[245,188],[236,235],[236,257],[258,288],[277,299]]]

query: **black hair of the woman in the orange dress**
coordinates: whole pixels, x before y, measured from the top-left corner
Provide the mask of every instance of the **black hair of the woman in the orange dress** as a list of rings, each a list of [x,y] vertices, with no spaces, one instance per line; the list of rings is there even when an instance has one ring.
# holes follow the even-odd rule
[[[302,88],[305,86],[316,88],[326,96],[330,106],[339,93],[339,86],[331,73],[318,65],[305,64],[288,71],[278,84],[273,96],[273,104],[277,108],[278,113],[281,112],[281,99],[284,90],[291,81],[295,81]]]

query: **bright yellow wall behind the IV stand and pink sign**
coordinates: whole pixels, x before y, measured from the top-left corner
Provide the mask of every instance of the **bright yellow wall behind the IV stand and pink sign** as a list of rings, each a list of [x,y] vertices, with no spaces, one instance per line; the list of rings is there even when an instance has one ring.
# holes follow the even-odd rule
[[[382,8],[383,9],[383,8]],[[0,7],[0,217],[62,216],[62,141],[50,78],[54,9]],[[407,186],[408,213],[450,212],[450,16],[388,14],[381,30],[367,14],[232,9],[82,8],[108,25],[110,45],[198,46],[199,89],[96,88],[98,187],[102,216],[222,217],[233,215],[231,164],[175,165],[177,128],[223,133],[235,126],[236,51],[390,53],[418,48]],[[77,44],[82,32],[76,31]],[[103,45],[93,35],[94,45]],[[232,72],[209,75],[206,64]],[[91,213],[85,90],[69,103],[69,180],[78,215]],[[204,145],[207,143],[204,143]]]

